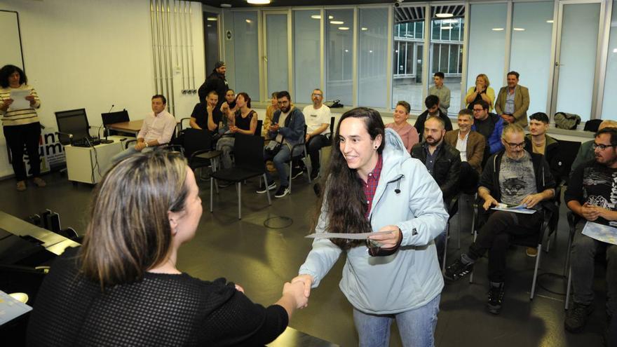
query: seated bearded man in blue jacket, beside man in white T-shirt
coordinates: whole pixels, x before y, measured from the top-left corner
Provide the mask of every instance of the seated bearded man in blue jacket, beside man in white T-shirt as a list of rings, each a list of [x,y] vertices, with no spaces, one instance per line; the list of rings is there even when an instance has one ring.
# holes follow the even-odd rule
[[[283,198],[290,193],[285,162],[290,158],[292,147],[296,144],[304,143],[305,123],[304,114],[302,114],[299,109],[292,106],[292,97],[289,92],[283,90],[282,92],[278,92],[276,97],[278,99],[278,110],[274,112],[274,116],[272,117],[269,137],[280,143],[280,147],[276,154],[267,151],[267,148],[264,149],[264,161],[273,161],[276,172],[278,172],[278,179],[280,179],[280,186],[276,193],[274,193],[274,197]],[[301,153],[302,150],[301,146],[296,147],[293,154],[297,155]],[[276,189],[276,183],[268,170],[266,170],[266,177],[268,179],[266,186],[258,189],[256,193],[263,194],[266,193],[266,191]]]

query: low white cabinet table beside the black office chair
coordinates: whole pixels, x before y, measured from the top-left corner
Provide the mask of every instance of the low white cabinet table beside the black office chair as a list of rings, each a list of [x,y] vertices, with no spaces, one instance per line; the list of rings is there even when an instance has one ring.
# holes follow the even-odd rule
[[[111,158],[120,153],[124,142],[133,137],[110,136],[111,144],[97,144],[95,147],[65,146],[69,181],[95,184],[111,166]]]

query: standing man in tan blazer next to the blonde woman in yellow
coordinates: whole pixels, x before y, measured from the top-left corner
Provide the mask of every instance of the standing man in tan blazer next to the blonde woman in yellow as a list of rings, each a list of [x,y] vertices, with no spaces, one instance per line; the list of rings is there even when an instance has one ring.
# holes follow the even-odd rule
[[[495,112],[503,121],[515,123],[522,128],[527,126],[529,109],[529,89],[519,86],[518,72],[508,72],[508,86],[502,87],[495,101]]]

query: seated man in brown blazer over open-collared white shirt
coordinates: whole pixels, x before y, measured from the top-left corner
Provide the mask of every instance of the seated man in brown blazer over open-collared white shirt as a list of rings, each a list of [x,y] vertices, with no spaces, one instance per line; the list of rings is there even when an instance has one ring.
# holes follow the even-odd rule
[[[461,153],[461,191],[473,193],[482,174],[486,139],[480,132],[471,130],[473,112],[470,109],[459,111],[457,123],[459,129],[446,132],[445,142]]]

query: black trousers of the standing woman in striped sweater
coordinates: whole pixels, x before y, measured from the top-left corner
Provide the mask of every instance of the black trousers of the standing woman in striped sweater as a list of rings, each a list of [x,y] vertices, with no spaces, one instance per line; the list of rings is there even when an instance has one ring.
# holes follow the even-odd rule
[[[39,158],[39,139],[41,138],[41,124],[39,122],[25,125],[5,125],[4,138],[6,146],[11,149],[11,158],[15,179],[26,179],[24,166],[24,147],[28,154],[30,170],[33,177],[41,175],[41,158]]]

